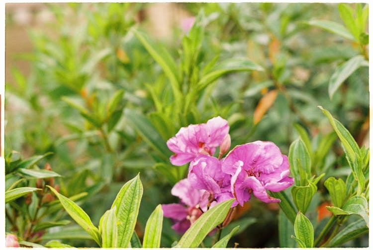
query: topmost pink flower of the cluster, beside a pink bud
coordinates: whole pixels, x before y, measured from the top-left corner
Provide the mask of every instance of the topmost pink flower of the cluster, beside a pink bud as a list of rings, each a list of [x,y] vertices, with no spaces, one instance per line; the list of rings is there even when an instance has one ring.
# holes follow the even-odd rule
[[[182,166],[198,155],[213,155],[229,132],[228,122],[214,117],[205,124],[189,125],[167,141],[175,155],[170,157],[173,165]]]

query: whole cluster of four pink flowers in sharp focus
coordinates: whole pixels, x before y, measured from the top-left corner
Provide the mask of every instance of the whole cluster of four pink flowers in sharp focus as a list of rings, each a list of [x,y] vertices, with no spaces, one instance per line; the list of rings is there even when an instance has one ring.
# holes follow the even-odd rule
[[[177,183],[171,193],[182,204],[163,205],[164,216],[176,223],[173,228],[185,232],[208,207],[235,198],[232,207],[248,201],[251,194],[264,202],[279,202],[267,190],[281,191],[294,182],[288,177],[289,162],[270,141],[254,141],[238,145],[225,158],[230,148],[228,122],[215,117],[205,124],[182,127],[167,141],[175,155],[170,161],[181,166],[189,163],[187,179]],[[218,158],[214,157],[220,146]]]

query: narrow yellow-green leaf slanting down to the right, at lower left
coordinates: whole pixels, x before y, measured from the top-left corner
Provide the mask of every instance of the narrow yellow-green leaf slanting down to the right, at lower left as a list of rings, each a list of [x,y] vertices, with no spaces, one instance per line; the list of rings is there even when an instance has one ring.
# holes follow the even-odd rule
[[[57,196],[62,206],[71,216],[71,218],[73,218],[93,238],[98,246],[101,246],[101,237],[99,235],[98,229],[93,225],[90,216],[88,216],[88,214],[74,201],[60,194],[53,187],[50,187],[48,185],[47,187],[49,187]]]

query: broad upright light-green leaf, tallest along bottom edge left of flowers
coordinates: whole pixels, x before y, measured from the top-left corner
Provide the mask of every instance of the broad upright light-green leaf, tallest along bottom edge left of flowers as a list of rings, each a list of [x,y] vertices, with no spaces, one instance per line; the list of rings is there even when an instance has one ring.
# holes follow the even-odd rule
[[[135,229],[137,215],[139,213],[140,201],[143,187],[140,176],[137,175],[129,180],[119,190],[111,205],[116,206],[116,218],[118,221],[118,248],[127,248],[130,243],[133,230]]]

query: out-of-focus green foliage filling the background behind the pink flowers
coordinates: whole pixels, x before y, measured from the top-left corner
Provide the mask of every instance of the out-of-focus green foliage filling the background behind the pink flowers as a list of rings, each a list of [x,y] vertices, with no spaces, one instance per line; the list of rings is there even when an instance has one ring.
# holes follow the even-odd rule
[[[187,34],[192,17],[195,34]],[[87,192],[78,201],[94,224],[123,183],[140,172],[141,238],[150,213],[176,201],[170,190],[186,177],[187,166],[169,163],[165,144],[181,126],[219,115],[229,122],[233,146],[270,140],[285,154],[303,128],[315,150],[322,138],[332,138],[317,163],[317,171],[326,172],[318,184],[324,193],[309,208],[308,218],[317,220],[328,202],[323,181],[350,171],[317,106],[341,121],[359,146],[369,147],[369,78],[368,67],[359,67],[330,97],[335,70],[358,55],[368,60],[367,43],[310,25],[312,20],[343,25],[334,3],[8,3],[5,155],[52,152],[40,164],[48,162],[62,176],[55,179],[65,196]],[[235,58],[264,70],[246,61],[227,64]],[[200,87],[219,65],[233,70]],[[252,198],[236,214],[233,226],[241,230],[231,242],[280,246],[278,214],[278,204]],[[62,230],[75,232],[76,225],[54,227],[44,240],[95,246],[79,234],[64,239]],[[161,246],[178,239],[166,218]],[[366,247],[368,237],[341,246]]]

